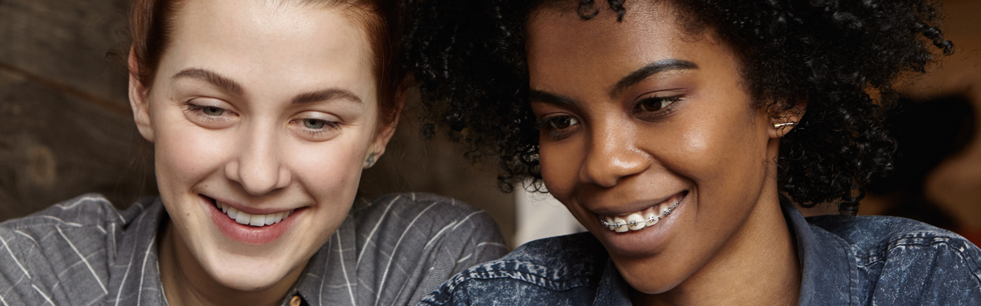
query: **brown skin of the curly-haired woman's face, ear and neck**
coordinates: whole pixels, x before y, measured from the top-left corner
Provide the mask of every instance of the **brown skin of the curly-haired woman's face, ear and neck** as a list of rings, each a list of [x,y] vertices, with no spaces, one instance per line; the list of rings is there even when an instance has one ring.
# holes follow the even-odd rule
[[[802,106],[752,107],[733,51],[710,29],[686,32],[662,1],[627,12],[622,23],[608,11],[583,22],[542,8],[530,20],[548,191],[603,243],[636,305],[797,304],[774,164],[792,127],[774,124],[798,121]],[[624,81],[657,65],[669,69]],[[681,204],[653,227],[621,233],[597,221],[672,196]]]

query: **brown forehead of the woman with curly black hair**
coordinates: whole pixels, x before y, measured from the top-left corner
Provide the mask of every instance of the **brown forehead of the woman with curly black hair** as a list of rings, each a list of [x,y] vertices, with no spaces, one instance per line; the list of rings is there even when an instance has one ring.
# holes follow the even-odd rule
[[[627,2],[622,22],[615,12],[595,7],[599,13],[589,21],[569,8],[543,7],[530,16],[527,54],[533,88],[597,81],[608,85],[666,59],[699,67],[735,59],[712,31],[686,30],[664,1]]]

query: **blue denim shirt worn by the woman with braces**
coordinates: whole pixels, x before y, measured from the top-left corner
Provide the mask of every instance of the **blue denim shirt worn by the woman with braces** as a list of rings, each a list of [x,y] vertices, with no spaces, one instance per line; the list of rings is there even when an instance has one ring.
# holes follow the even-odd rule
[[[981,305],[981,251],[954,232],[894,217],[784,217],[797,236],[800,305]],[[589,232],[526,243],[464,271],[420,305],[630,305]]]

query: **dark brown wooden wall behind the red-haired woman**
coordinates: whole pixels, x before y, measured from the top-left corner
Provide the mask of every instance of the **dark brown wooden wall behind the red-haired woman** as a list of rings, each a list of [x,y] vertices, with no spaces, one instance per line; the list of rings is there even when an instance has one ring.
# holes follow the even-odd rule
[[[0,221],[85,192],[120,208],[155,195],[152,146],[136,132],[124,62],[129,0],[0,0]],[[485,171],[475,170],[485,169]],[[360,193],[421,191],[487,210],[505,237],[514,197],[405,117]]]

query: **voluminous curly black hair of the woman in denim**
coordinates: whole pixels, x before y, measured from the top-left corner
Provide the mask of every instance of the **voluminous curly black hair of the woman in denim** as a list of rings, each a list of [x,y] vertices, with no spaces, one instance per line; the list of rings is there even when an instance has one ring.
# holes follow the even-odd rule
[[[623,0],[409,3],[405,60],[427,111],[423,134],[444,130],[466,145],[468,158],[496,157],[505,192],[527,177],[542,190],[525,22],[542,5],[563,1],[584,22],[600,10],[630,18]],[[864,186],[892,169],[896,145],[882,122],[898,96],[894,82],[925,72],[934,60],[931,44],[944,54],[954,50],[938,28],[938,9],[923,0],[671,4],[684,28],[710,30],[736,50],[755,101],[807,102],[799,125],[781,139],[779,187],[804,207],[838,202],[843,215],[855,214]],[[789,110],[796,103],[757,104]]]

